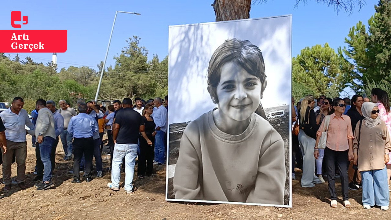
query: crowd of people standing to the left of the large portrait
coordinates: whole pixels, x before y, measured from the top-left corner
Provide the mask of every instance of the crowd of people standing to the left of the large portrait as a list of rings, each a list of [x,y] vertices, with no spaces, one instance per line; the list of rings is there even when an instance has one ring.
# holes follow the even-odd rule
[[[111,182],[107,187],[119,190],[122,170],[125,171],[124,189],[134,192],[133,175],[137,163],[139,179],[153,174],[154,165],[162,165],[167,152],[168,96],[147,101],[137,97],[115,100],[110,105],[97,105],[94,100],[79,99],[77,107],[71,108],[66,100],[56,102],[38,99],[31,112],[31,121],[23,109],[22,97],[15,97],[12,105],[0,113],[0,147],[2,151],[3,190],[12,187],[11,164],[16,162],[16,182],[26,189],[25,171],[27,158],[27,134],[32,135],[36,151],[36,166],[33,181],[37,190],[55,186],[52,174],[55,171],[56,148],[59,139],[63,145],[64,160],[73,160],[72,183],[81,183],[81,173],[86,182],[93,180],[93,158],[96,177],[103,176],[102,154],[110,155]],[[25,126],[29,128],[26,130]],[[103,136],[107,132],[108,144]],[[137,159],[137,160],[136,160]]]

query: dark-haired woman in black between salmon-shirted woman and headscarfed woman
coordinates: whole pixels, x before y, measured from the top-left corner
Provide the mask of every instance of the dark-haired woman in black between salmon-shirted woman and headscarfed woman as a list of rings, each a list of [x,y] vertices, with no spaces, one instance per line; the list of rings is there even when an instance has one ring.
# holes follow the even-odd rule
[[[357,125],[357,122],[364,119],[362,116],[362,103],[364,103],[364,98],[361,95],[354,95],[352,97],[352,107],[348,110],[347,115],[350,117],[352,122],[352,130],[354,131]],[[361,186],[361,174],[357,168],[354,168],[354,162],[350,161],[348,175],[349,175],[349,189],[357,190]]]

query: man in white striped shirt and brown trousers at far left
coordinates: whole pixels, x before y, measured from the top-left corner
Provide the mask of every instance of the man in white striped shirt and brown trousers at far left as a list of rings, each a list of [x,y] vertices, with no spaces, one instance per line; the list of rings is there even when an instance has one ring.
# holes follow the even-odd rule
[[[22,109],[24,101],[21,97],[15,97],[11,107],[0,113],[0,117],[6,128],[5,137],[7,140],[7,152],[3,154],[3,181],[5,186],[4,191],[11,189],[11,163],[13,155],[16,156],[18,164],[16,181],[21,189],[26,189],[25,172],[26,172],[26,157],[27,157],[27,141],[26,129],[27,125],[30,134],[34,135],[34,125],[29,119],[26,110]],[[4,150],[2,149],[2,153]]]

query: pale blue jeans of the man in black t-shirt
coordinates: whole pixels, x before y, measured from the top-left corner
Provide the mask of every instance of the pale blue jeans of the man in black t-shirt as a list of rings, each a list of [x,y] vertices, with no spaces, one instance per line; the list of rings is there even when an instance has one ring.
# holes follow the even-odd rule
[[[111,183],[119,187],[121,178],[121,164],[125,157],[125,187],[126,191],[133,190],[133,175],[137,157],[138,144],[115,144],[113,153],[113,166],[111,168]]]

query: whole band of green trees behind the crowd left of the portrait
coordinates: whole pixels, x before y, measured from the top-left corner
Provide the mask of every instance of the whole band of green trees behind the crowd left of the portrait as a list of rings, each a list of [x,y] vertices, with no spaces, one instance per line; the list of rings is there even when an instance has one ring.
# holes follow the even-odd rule
[[[148,51],[139,45],[140,38],[133,36],[127,46],[115,57],[114,69],[110,66],[104,77],[98,99],[123,99],[125,97],[143,99],[164,97],[168,92],[168,56],[159,60],[154,56],[148,61]],[[103,62],[97,65],[102,70]],[[0,53],[0,102],[11,103],[14,97],[25,100],[24,108],[31,112],[39,98],[58,103],[65,99],[71,106],[78,98],[94,99],[100,78],[100,71],[89,67],[62,68],[57,73],[57,65],[48,62],[36,63],[27,57],[21,61],[18,54],[11,60]]]

